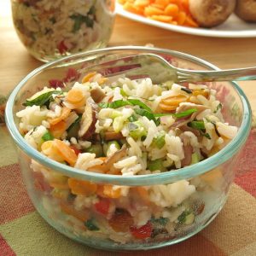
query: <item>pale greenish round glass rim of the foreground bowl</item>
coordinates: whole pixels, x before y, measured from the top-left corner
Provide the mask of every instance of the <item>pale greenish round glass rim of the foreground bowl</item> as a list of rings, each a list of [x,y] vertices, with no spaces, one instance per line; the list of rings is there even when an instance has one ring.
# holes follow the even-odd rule
[[[38,73],[44,71],[44,69],[48,67],[53,67],[58,64],[61,64],[62,61],[70,61],[77,58],[87,57],[93,54],[103,54],[103,53],[113,53],[115,51],[129,51],[129,50],[139,50],[139,51],[151,51],[155,54],[167,54],[173,55],[177,58],[181,58],[183,60],[192,61],[195,64],[199,64],[203,67],[210,68],[212,70],[219,70],[218,67],[212,65],[207,61],[203,61],[200,58],[197,58],[193,55],[188,55],[182,52],[174,51],[171,49],[160,49],[160,48],[150,48],[145,46],[117,46],[117,47],[109,47],[103,49],[95,49],[87,52],[69,55],[63,57],[56,61],[50,61],[34,69],[31,73],[28,73],[24,79],[20,81],[19,84],[15,87],[12,93],[9,96],[9,100],[5,109],[5,119],[6,124],[9,129],[9,133],[13,137],[16,145],[22,149],[26,154],[28,154],[32,159],[37,160],[44,166],[49,167],[50,169],[55,170],[56,172],[61,172],[68,177],[75,177],[81,180],[89,180],[94,183],[113,183],[116,185],[125,185],[125,186],[148,186],[153,184],[160,183],[173,183],[183,179],[189,179],[191,177],[195,177],[201,175],[205,172],[212,170],[213,168],[220,166],[225,161],[230,160],[242,147],[242,145],[246,142],[249,131],[251,129],[252,122],[252,113],[250,104],[247,100],[247,96],[241,90],[238,84],[235,82],[230,82],[236,89],[236,92],[241,98],[241,104],[243,106],[243,115],[241,127],[238,131],[236,137],[222,150],[220,150],[217,154],[212,155],[207,160],[202,160],[201,162],[192,165],[186,166],[181,169],[177,169],[176,171],[171,172],[161,172],[157,174],[148,174],[148,175],[137,175],[133,177],[122,177],[119,175],[111,175],[111,174],[101,174],[96,172],[87,172],[84,170],[79,170],[73,168],[71,166],[65,166],[61,163],[56,162],[55,160],[50,160],[44,154],[39,153],[35,148],[32,148],[26,140],[20,135],[20,132],[16,128],[13,108],[15,105],[15,98],[19,93],[20,89],[25,86],[26,81],[32,79],[32,77],[36,76]]]

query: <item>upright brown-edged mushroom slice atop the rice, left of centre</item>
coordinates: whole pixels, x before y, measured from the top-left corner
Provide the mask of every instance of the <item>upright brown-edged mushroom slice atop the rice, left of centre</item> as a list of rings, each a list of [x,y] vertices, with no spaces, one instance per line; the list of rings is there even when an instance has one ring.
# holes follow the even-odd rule
[[[86,100],[86,106],[80,122],[79,137],[88,139],[96,130],[97,105],[91,97]]]

